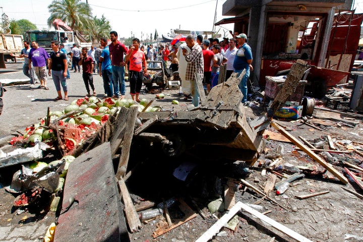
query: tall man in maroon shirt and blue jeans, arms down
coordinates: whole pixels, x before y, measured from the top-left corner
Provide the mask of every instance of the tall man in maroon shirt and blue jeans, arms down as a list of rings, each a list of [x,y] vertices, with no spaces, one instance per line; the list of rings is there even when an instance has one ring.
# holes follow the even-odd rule
[[[113,96],[119,97],[118,90],[120,91],[121,98],[125,98],[126,85],[125,85],[125,62],[124,53],[126,54],[128,49],[126,46],[117,40],[117,32],[110,32],[110,39],[112,43],[108,45],[111,65],[112,65],[112,82],[113,82]]]

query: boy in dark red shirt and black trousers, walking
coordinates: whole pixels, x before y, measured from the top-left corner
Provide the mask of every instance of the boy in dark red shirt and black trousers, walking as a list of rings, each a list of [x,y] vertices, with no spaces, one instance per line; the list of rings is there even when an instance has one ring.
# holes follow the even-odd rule
[[[90,94],[89,86],[91,86],[91,88],[92,88],[93,96],[96,96],[96,91],[95,91],[94,85],[93,85],[93,74],[92,74],[94,62],[93,62],[93,58],[91,56],[89,56],[87,54],[87,52],[88,52],[88,48],[83,47],[79,65],[82,66],[82,70],[83,70],[82,78],[83,78],[83,82],[85,83],[85,86],[86,86],[87,97],[90,97],[91,94]]]

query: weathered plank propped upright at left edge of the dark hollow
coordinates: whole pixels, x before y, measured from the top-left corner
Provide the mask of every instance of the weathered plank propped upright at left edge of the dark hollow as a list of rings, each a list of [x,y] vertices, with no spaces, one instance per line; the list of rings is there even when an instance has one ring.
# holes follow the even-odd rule
[[[125,127],[125,136],[123,139],[123,146],[121,156],[118,162],[118,168],[116,172],[116,179],[119,179],[120,176],[125,176],[127,166],[129,163],[130,157],[130,148],[131,142],[134,135],[134,128],[135,128],[135,120],[138,114],[138,107],[133,106],[130,107],[129,115],[127,117],[127,123]]]

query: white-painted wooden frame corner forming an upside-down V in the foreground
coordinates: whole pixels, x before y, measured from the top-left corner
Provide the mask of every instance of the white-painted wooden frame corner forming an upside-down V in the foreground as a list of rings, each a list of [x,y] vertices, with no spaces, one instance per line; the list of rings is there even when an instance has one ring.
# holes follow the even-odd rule
[[[262,213],[258,212],[257,210],[249,207],[247,204],[242,202],[237,202],[236,205],[226,214],[224,214],[215,224],[212,225],[202,236],[200,236],[196,242],[207,242],[211,239],[214,234],[216,234],[221,227],[226,224],[240,209],[245,210],[249,214],[259,218],[261,221],[273,226],[277,230],[281,231],[282,233],[288,235],[291,238],[296,239],[300,242],[312,242],[312,240],[296,233],[295,231],[289,229],[288,227],[276,222],[275,220],[263,215]]]

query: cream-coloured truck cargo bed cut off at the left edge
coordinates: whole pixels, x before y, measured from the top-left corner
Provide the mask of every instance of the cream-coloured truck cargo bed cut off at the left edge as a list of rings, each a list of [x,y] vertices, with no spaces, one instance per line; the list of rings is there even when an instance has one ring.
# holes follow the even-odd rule
[[[5,58],[8,54],[19,53],[23,48],[23,35],[0,34],[0,68],[6,68]]]

